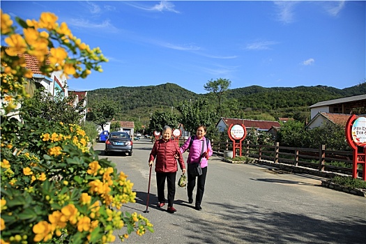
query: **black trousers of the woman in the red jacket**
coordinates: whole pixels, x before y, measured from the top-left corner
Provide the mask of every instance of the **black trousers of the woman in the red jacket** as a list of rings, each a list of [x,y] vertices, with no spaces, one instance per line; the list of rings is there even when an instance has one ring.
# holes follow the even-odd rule
[[[168,206],[172,207],[174,197],[176,195],[176,172],[174,173],[158,173],[156,172],[156,184],[158,185],[158,200],[160,203],[166,202],[165,199],[165,180],[168,186]]]

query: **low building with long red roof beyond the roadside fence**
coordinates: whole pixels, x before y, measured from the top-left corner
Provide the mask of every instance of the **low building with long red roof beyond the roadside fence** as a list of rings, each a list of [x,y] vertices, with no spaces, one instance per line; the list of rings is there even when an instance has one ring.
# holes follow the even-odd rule
[[[266,132],[273,126],[281,127],[280,123],[277,121],[256,121],[251,119],[230,119],[222,117],[216,124],[216,128],[218,128],[219,132],[224,132],[231,124],[243,124],[247,129],[255,128],[258,131]]]

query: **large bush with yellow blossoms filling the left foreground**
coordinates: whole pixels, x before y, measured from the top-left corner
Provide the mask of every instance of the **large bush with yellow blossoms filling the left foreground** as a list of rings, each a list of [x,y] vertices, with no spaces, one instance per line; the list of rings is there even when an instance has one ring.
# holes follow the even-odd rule
[[[122,241],[153,231],[144,216],[119,211],[135,202],[133,183],[89,149],[79,125],[24,116],[24,77],[32,74],[18,54],[36,56],[45,75],[63,70],[84,78],[102,71],[99,63],[107,60],[100,49],[90,49],[52,13],[16,20],[21,33],[1,10],[7,46],[1,46],[0,243],[111,243],[116,229],[125,228]]]

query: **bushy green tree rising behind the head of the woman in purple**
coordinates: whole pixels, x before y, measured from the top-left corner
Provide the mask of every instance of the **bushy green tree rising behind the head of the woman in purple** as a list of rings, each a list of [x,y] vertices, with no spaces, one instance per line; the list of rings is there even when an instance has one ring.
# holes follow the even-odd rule
[[[199,98],[195,102],[181,102],[176,109],[181,112],[181,123],[185,130],[192,133],[195,133],[198,125],[212,127],[220,119],[212,103],[206,98]]]

